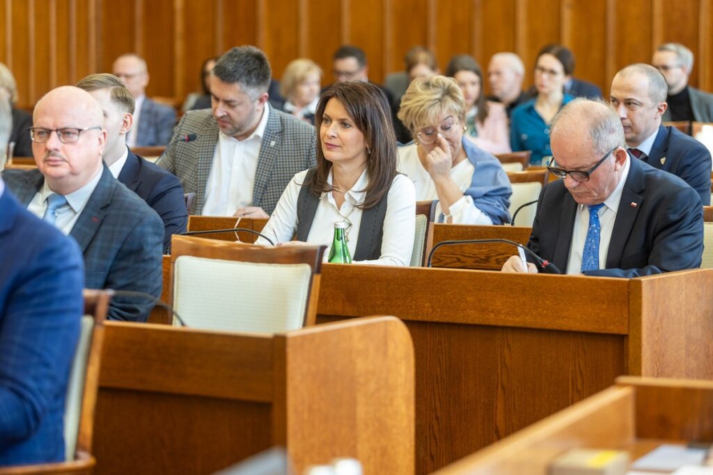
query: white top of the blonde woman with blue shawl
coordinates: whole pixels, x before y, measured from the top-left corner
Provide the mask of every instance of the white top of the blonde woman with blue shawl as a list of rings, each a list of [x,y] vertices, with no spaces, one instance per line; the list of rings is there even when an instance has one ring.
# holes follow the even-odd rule
[[[436,184],[431,179],[429,171],[424,168],[419,159],[418,145],[411,144],[399,147],[399,172],[405,174],[416,188],[416,199],[419,201],[432,201],[438,199]],[[471,186],[473,173],[476,168],[470,160],[462,160],[458,165],[451,168],[451,178],[461,192],[465,192]],[[449,209],[453,224],[493,224],[490,216],[483,213],[473,203],[473,197],[463,194],[461,199],[451,204]],[[441,204],[436,205],[436,216],[442,216]],[[438,219],[441,221],[441,219]]]

